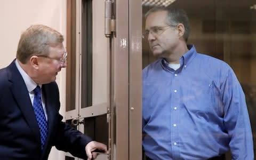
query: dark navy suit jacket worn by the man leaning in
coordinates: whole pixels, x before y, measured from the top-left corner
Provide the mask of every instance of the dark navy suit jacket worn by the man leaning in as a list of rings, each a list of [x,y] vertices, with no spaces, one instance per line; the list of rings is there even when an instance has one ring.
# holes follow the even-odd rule
[[[91,141],[61,122],[59,90],[55,82],[42,85],[48,117],[48,135],[41,151],[39,127],[29,93],[15,62],[0,69],[0,159],[47,159],[52,146],[86,159]]]

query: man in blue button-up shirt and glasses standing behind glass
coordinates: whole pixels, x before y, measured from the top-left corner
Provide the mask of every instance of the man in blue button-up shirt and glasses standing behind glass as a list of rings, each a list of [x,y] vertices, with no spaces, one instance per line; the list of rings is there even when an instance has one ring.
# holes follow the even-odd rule
[[[160,59],[143,69],[143,150],[147,159],[253,160],[245,95],[227,63],[187,45],[187,14],[154,8],[144,38]]]

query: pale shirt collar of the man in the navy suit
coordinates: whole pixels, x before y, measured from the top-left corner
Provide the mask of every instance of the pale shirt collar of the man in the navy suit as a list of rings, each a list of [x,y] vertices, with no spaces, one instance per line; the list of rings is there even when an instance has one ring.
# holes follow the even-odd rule
[[[23,80],[24,80],[24,82],[25,82],[25,84],[26,84],[26,86],[27,86],[28,92],[33,91],[33,90],[36,88],[36,86],[37,86],[37,84],[35,83],[35,81],[33,81],[33,79],[31,79],[31,78],[28,76],[28,74],[25,72],[25,70],[23,70],[23,69],[21,68],[21,66],[20,66],[20,64],[18,63],[18,60],[17,60],[17,59],[15,60],[15,65],[16,65],[16,67],[18,68],[18,70],[19,70],[19,72],[20,72],[20,74],[21,74],[21,76],[22,76],[22,78],[23,78]],[[42,87],[42,85],[39,85],[39,86]]]

